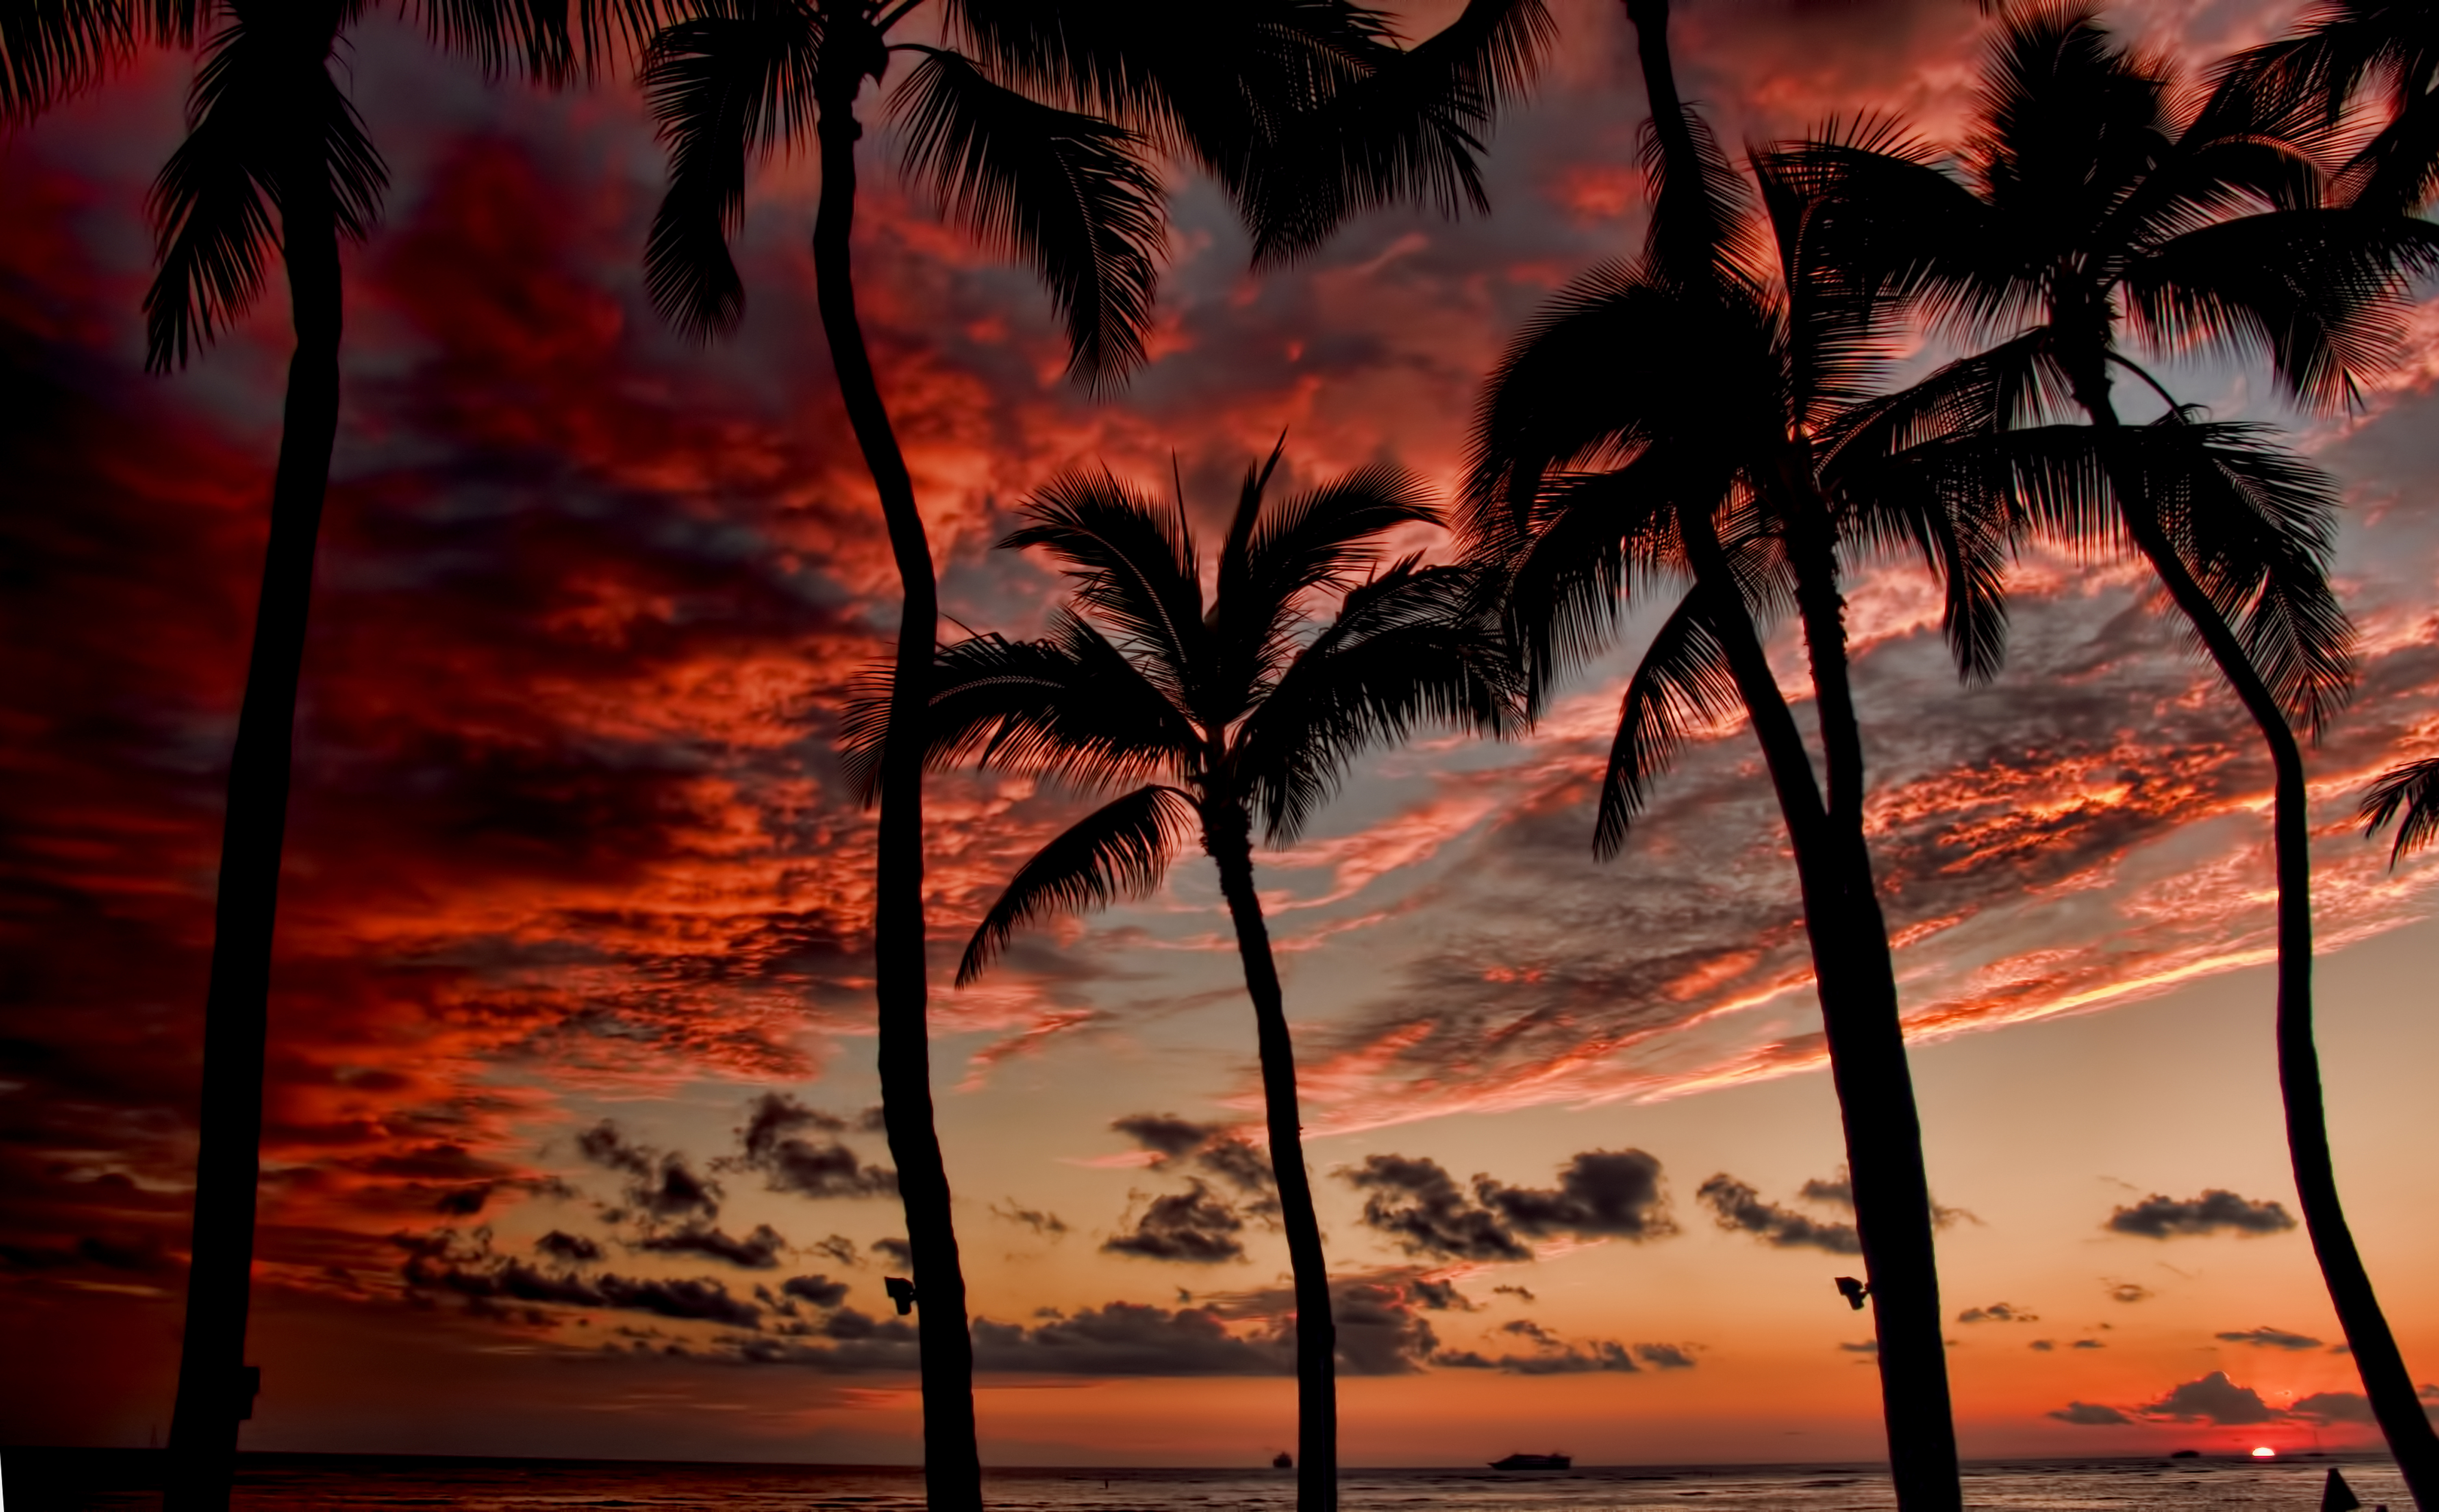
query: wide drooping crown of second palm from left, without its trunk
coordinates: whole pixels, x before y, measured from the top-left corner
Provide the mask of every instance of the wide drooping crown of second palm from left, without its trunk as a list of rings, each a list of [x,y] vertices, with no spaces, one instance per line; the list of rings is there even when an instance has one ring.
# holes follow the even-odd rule
[[[888,98],[905,173],[1044,278],[1071,371],[1105,383],[1144,361],[1161,156],[1227,188],[1256,259],[1310,251],[1371,205],[1483,207],[1480,129],[1549,34],[1541,0],[1473,0],[1415,49],[1351,0],[954,0],[949,46],[893,41],[920,5],[695,0],[656,37],[644,88],[671,180],[646,280],[683,329],[744,312],[727,237],[749,156],[851,107],[893,54],[917,56]]]

